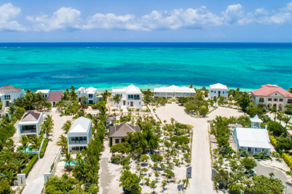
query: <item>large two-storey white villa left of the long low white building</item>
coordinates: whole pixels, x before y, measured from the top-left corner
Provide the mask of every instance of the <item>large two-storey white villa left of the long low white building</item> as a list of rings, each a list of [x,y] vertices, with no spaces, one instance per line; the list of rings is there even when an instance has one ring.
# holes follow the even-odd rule
[[[142,109],[142,92],[137,86],[113,87],[112,96],[116,94],[122,97],[118,107]],[[113,106],[116,106],[114,102]]]

